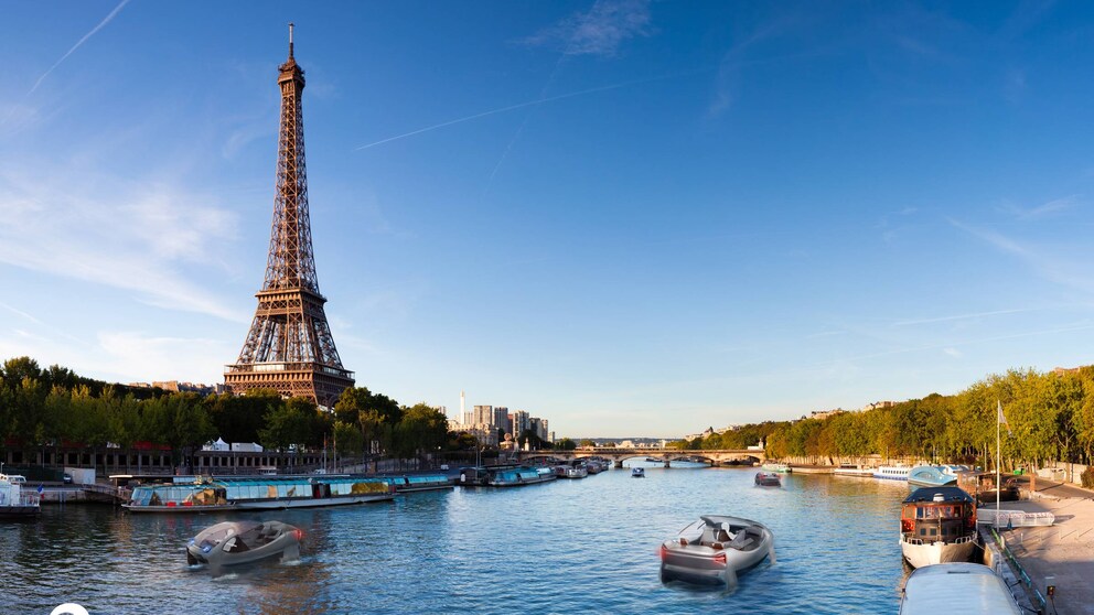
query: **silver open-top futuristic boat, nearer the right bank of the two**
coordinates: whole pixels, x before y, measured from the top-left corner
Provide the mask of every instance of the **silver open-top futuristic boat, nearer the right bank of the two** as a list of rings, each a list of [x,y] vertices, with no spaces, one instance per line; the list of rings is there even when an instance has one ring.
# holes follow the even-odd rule
[[[661,544],[661,581],[733,587],[738,574],[764,558],[775,562],[775,537],[764,525],[706,515]]]

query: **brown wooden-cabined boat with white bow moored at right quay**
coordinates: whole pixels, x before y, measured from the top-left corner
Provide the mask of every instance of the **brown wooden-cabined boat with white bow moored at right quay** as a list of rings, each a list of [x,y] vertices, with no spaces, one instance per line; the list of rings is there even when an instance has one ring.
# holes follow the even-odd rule
[[[900,551],[914,568],[966,562],[976,547],[976,500],[957,487],[922,487],[900,509]]]

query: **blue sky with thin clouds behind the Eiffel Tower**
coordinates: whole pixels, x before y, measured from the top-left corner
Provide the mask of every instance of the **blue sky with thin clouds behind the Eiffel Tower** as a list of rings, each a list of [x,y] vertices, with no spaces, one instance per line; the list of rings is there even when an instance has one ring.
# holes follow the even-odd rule
[[[0,9],[3,358],[223,380],[293,21],[358,386],[678,436],[1092,363],[1087,3]]]

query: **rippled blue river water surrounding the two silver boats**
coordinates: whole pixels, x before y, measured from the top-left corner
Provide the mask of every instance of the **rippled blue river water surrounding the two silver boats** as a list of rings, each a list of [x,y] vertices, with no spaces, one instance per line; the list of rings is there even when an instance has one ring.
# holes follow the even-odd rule
[[[234,515],[43,507],[0,522],[0,613],[895,613],[903,484],[754,471],[612,470],[392,503]],[[761,521],[775,563],[736,591],[662,584],[661,542],[699,515]],[[301,559],[213,576],[184,547],[226,519],[304,530]]]

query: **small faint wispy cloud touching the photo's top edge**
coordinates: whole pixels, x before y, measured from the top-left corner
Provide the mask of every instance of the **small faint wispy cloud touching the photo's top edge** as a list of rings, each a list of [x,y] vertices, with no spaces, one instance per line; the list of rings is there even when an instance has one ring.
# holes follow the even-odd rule
[[[558,47],[566,55],[619,53],[635,36],[648,36],[648,0],[598,0],[588,12],[570,15],[523,42],[532,46]]]

